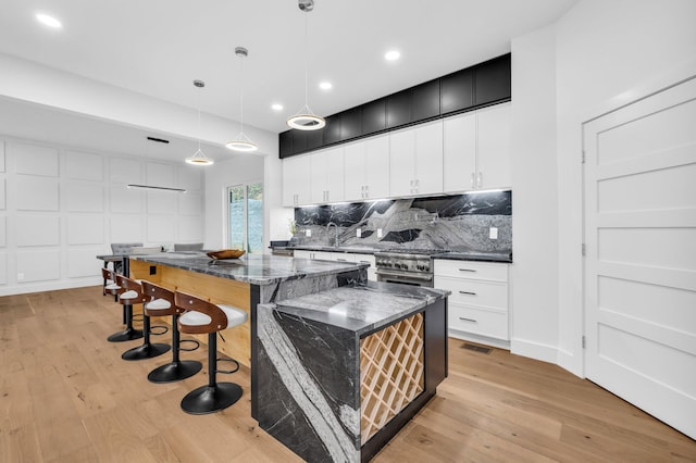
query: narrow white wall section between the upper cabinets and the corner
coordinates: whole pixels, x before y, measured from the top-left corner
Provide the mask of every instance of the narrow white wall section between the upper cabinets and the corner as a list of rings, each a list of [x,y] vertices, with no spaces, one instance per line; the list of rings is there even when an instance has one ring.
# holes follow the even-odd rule
[[[512,41],[512,352],[556,362],[558,189],[556,30]]]

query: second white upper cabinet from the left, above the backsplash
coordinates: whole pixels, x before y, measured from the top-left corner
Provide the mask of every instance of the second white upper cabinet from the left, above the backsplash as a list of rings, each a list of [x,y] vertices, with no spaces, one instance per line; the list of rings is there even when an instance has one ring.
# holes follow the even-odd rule
[[[344,201],[344,147],[310,157],[312,203]]]

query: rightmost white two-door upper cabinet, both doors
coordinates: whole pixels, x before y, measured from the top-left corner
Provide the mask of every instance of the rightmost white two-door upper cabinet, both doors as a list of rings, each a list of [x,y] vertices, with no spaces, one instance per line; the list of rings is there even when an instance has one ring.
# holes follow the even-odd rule
[[[510,103],[445,120],[444,191],[512,185]]]

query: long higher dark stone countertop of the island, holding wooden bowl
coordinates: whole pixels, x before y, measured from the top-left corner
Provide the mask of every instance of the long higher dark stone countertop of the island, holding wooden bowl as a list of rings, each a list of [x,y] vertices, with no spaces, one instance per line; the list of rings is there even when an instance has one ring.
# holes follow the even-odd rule
[[[212,261],[202,252],[132,254],[130,259],[253,285],[271,285],[309,276],[333,275],[369,266],[361,262],[314,261],[268,254],[246,254],[239,259]]]

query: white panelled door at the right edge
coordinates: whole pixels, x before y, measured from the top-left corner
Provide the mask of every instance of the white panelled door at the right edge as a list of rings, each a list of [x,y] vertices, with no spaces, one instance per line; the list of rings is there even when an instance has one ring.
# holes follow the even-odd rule
[[[586,375],[696,438],[696,78],[583,134]]]

